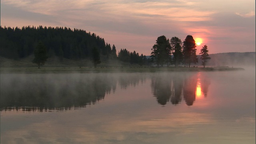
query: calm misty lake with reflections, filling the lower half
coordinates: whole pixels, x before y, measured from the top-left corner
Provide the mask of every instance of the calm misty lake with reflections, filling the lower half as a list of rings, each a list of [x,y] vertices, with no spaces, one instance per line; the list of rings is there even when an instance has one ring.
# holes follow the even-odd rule
[[[255,68],[1,74],[1,144],[252,144]]]

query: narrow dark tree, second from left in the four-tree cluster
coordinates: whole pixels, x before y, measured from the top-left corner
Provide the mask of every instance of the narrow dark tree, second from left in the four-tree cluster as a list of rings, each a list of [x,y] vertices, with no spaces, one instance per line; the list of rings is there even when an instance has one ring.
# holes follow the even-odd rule
[[[175,67],[178,67],[178,65],[182,61],[181,44],[182,44],[181,40],[177,37],[172,37],[170,40],[170,45],[172,47],[172,54],[173,54],[173,63]]]

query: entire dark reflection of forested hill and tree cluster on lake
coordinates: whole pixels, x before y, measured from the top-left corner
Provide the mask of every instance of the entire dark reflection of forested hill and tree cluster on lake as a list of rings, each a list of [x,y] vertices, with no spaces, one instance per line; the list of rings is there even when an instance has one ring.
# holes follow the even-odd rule
[[[197,97],[207,95],[210,84],[201,74],[156,73],[148,76],[158,104],[193,105]],[[201,89],[201,79],[204,80]],[[197,80],[197,81],[196,81]],[[1,110],[52,111],[71,110],[96,104],[106,94],[146,82],[145,74],[7,74],[1,80]],[[207,85],[208,84],[208,85]]]

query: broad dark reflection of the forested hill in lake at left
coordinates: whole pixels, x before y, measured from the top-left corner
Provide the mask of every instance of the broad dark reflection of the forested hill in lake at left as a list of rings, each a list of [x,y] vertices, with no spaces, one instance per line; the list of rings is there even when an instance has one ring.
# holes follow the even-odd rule
[[[7,74],[1,76],[0,107],[24,111],[85,107],[104,99],[116,83],[106,74]]]

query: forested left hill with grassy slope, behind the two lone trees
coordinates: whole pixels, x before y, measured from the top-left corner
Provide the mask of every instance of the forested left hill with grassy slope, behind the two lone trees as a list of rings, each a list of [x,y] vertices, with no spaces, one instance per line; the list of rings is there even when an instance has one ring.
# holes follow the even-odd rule
[[[135,51],[129,52],[126,49],[121,49],[117,56],[114,44],[105,43],[104,38],[85,30],[46,26],[26,26],[22,28],[0,26],[0,60],[2,66],[5,66],[4,63],[7,64],[7,61],[12,61],[12,64],[7,64],[7,66],[15,66],[18,61],[22,65],[27,65],[25,61],[33,59],[34,49],[39,42],[42,42],[46,47],[48,62],[56,63],[56,57],[60,60],[57,63],[62,64],[66,64],[63,60],[68,61],[68,63],[90,61],[96,52],[100,56],[102,65],[116,65],[116,62],[119,61],[130,64],[148,64],[144,55]]]

